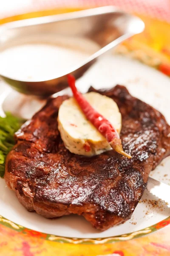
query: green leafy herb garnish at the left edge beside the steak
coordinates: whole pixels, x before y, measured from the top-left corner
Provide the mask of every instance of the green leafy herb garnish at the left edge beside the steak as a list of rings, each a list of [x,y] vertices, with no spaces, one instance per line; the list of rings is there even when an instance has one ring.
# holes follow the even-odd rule
[[[6,117],[0,116],[0,177],[5,173],[6,156],[15,145],[14,133],[22,124],[22,119],[10,113],[7,113]]]

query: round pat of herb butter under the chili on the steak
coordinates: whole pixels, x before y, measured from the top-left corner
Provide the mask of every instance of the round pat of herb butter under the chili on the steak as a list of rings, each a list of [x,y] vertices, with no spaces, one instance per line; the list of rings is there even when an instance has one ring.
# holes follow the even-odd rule
[[[122,117],[116,102],[95,92],[86,93],[84,97],[120,133]],[[111,149],[105,137],[86,119],[74,98],[65,100],[60,106],[58,128],[65,147],[74,154],[92,156]]]

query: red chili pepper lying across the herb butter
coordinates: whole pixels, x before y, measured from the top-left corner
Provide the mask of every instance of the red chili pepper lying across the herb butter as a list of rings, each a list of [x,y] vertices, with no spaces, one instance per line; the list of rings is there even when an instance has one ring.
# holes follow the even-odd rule
[[[116,129],[113,127],[111,122],[109,122],[104,116],[99,114],[84,98],[84,96],[77,91],[75,86],[75,78],[72,75],[68,75],[68,84],[71,87],[74,98],[77,100],[80,108],[87,117],[87,119],[96,127],[96,129],[106,138],[111,147],[117,151],[119,154],[124,155],[125,157],[131,158],[122,149],[122,142],[120,140],[119,134]]]

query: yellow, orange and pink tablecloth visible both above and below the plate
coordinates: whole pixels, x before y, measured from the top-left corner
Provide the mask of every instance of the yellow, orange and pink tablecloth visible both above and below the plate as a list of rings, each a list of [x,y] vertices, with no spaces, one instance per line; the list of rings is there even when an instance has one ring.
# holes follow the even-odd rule
[[[0,23],[111,4],[136,13],[146,25],[142,34],[125,41],[117,48],[117,51],[140,59],[145,64],[170,76],[170,24],[167,23],[167,21],[170,22],[169,0],[6,0],[4,3],[2,1],[0,3]],[[62,8],[63,6],[64,8]],[[69,6],[72,7],[68,8]],[[60,9],[54,10],[59,7]],[[45,9],[48,10],[45,11]],[[28,12],[31,13],[21,15]],[[13,15],[15,17],[9,17]],[[165,224],[163,223],[162,227]],[[170,225],[155,233],[130,241],[114,244],[77,245],[47,241],[40,237],[38,232],[31,231],[24,234],[11,229],[8,223],[0,224],[0,256],[8,255],[169,256]]]

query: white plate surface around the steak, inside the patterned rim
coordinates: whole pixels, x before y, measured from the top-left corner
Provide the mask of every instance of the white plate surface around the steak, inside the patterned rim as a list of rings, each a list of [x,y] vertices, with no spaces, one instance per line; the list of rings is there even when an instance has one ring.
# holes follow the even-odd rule
[[[77,87],[85,92],[90,85],[98,88],[113,87],[122,84],[133,96],[142,99],[157,108],[170,123],[170,79],[153,68],[138,61],[119,55],[103,56],[85,75],[77,81]],[[6,88],[6,87],[5,87]],[[0,86],[3,98],[4,85]],[[165,159],[151,176],[170,185],[170,157]],[[65,216],[58,219],[46,219],[35,212],[27,212],[10,191],[3,179],[0,179],[0,215],[23,225],[24,227],[57,236],[77,238],[105,238],[141,230],[170,216],[170,209],[163,202],[153,207],[148,201],[158,198],[144,192],[142,201],[136,207],[130,221],[104,232],[91,227],[88,221],[78,215]]]

